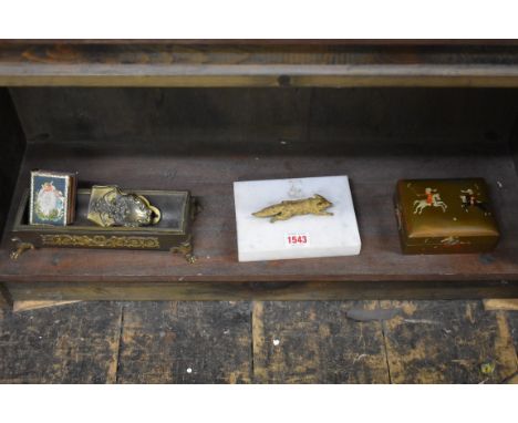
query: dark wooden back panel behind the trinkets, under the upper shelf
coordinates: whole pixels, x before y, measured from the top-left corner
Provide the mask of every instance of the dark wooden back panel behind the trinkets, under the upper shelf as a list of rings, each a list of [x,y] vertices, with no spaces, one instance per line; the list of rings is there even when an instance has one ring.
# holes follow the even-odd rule
[[[83,141],[106,144],[107,155],[141,156],[158,144],[170,155],[249,154],[259,158],[255,165],[263,155],[415,154],[401,151],[402,140],[424,144],[427,154],[438,149],[431,142],[443,144],[443,153],[457,145],[476,148],[485,136],[507,141],[518,101],[518,90],[466,89],[9,91],[29,143]],[[128,142],[141,151],[130,149]]]

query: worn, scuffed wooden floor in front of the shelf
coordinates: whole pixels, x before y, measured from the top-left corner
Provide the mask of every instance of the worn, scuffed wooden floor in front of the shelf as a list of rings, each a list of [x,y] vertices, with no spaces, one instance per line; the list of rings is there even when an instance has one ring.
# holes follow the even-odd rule
[[[0,383],[503,383],[481,301],[77,302],[0,314]]]

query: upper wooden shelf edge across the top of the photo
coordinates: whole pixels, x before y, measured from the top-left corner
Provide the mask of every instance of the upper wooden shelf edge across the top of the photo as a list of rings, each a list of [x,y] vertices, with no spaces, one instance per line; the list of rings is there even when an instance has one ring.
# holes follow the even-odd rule
[[[518,86],[515,43],[2,42],[0,85]]]

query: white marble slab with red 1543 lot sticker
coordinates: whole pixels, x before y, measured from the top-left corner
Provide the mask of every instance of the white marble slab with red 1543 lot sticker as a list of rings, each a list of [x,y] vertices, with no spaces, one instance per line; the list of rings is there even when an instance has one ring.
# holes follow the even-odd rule
[[[303,215],[270,221],[252,213],[319,194],[332,216]],[[346,176],[234,183],[239,261],[353,256],[361,240]]]

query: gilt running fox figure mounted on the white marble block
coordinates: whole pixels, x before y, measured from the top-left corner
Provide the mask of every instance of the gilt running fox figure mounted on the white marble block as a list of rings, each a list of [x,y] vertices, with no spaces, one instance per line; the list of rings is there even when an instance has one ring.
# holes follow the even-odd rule
[[[304,199],[286,200],[273,206],[266,207],[262,210],[252,213],[256,217],[271,217],[270,223],[277,220],[288,220],[293,216],[315,215],[332,216],[332,213],[325,212],[333,204],[319,194]]]

